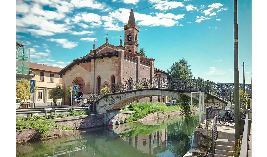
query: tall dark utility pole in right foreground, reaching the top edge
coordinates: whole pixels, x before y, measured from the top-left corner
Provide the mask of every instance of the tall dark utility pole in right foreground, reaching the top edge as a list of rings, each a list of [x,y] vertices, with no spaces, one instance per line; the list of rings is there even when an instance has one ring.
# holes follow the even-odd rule
[[[240,101],[239,101],[239,70],[238,70],[238,25],[237,0],[234,0],[234,100],[235,100],[235,146],[240,142]]]

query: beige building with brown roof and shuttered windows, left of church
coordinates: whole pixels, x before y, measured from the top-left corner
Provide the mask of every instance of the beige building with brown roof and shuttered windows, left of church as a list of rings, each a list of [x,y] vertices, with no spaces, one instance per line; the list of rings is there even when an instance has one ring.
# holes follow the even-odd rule
[[[38,90],[34,92],[33,102],[35,103],[35,107],[53,105],[48,92],[56,87],[56,84],[62,85],[63,75],[57,74],[60,70],[62,68],[30,62],[30,74],[35,75],[32,79],[35,80],[35,85],[38,86]],[[60,103],[61,100],[57,102]]]

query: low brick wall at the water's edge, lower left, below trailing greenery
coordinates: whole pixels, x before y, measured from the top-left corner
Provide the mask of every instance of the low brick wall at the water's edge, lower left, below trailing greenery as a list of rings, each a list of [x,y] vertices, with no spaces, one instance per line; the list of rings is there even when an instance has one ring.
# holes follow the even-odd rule
[[[52,129],[48,131],[48,136],[42,139],[56,138],[59,136],[66,136],[72,134],[71,130]],[[16,143],[36,141],[40,139],[40,133],[36,129],[27,129],[16,131]]]

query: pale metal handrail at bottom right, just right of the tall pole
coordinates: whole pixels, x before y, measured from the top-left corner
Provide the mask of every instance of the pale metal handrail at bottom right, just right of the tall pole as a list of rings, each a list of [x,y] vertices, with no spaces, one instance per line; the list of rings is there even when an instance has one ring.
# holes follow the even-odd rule
[[[248,157],[248,114],[246,115],[239,157]]]

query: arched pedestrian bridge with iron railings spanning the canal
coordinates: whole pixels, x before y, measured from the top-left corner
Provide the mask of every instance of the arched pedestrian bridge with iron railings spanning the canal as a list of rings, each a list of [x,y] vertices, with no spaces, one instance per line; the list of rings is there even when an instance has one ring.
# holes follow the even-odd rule
[[[230,100],[234,104],[234,92],[226,89],[223,86],[215,84],[209,80],[196,79],[178,79],[178,78],[142,78],[118,82],[115,84],[107,84],[106,91],[101,92],[93,100],[93,109],[98,113],[107,113],[109,110],[120,110],[124,106],[136,100],[157,96],[166,95],[173,98],[179,98],[179,93],[190,96],[191,92],[205,92],[205,97],[210,95],[214,98],[213,102],[207,105],[217,105],[221,103],[221,107],[227,104]],[[194,94],[193,97],[199,98],[199,94]],[[251,99],[240,95],[240,107],[250,108]],[[197,106],[199,104],[196,104]]]

